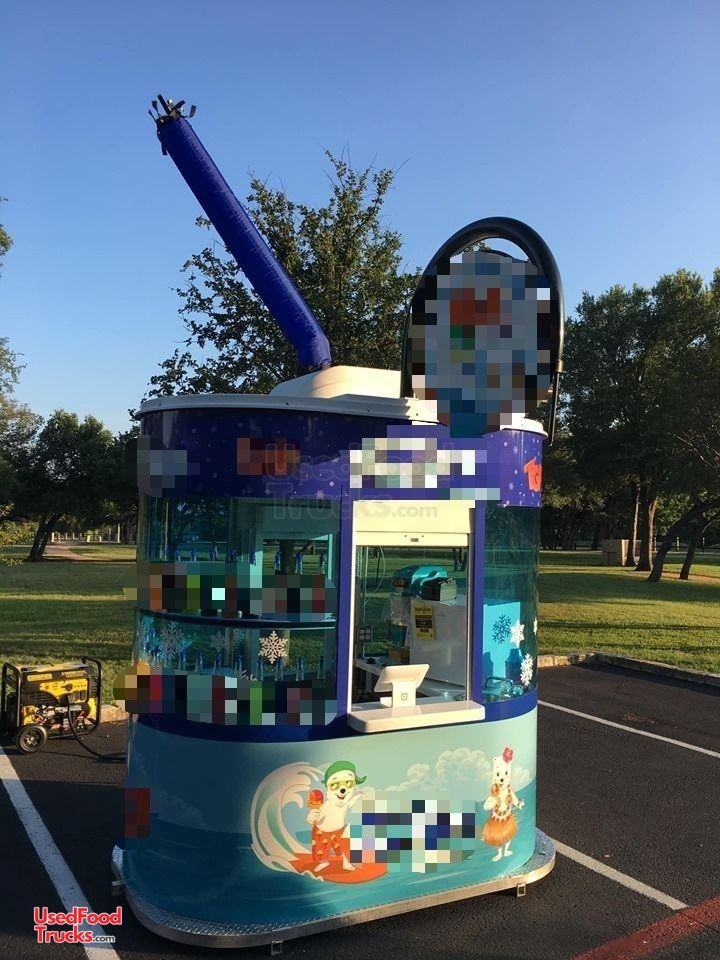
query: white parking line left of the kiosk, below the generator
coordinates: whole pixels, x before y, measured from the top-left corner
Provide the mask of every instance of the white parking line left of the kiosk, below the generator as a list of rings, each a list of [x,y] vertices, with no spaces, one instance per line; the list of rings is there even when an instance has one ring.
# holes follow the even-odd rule
[[[65,910],[69,913],[73,907],[86,907],[94,913],[2,747],[0,747],[0,780]],[[36,906],[42,907],[44,904],[36,904]],[[98,937],[106,935],[105,929],[100,926],[83,924],[82,929],[92,930]],[[32,917],[28,917],[28,932],[34,933]],[[111,928],[107,932],[112,934],[114,929]],[[111,944],[80,944],[80,946],[88,960],[120,960]]]

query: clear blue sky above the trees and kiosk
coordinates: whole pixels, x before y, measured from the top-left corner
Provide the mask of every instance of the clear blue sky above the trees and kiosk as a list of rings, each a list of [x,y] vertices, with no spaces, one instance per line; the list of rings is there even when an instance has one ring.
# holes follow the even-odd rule
[[[183,339],[203,243],[146,110],[162,92],[243,199],[327,194],[323,148],[399,169],[410,267],[471,220],[547,240],[581,292],[720,265],[716,0],[36,0],[0,13],[0,336],[16,396],[113,430]]]

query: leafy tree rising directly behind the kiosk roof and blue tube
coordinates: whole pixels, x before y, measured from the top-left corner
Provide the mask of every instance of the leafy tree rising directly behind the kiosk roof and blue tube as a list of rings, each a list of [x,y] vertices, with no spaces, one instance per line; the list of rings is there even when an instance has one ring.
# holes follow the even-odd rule
[[[248,209],[315,312],[334,361],[399,369],[417,275],[401,270],[401,237],[382,221],[394,174],[326,156],[332,175],[324,206],[295,203],[254,178]],[[178,293],[189,335],[151,378],[151,395],[262,392],[296,375],[292,347],[227,251],[208,245],[183,270],[187,286]],[[211,355],[197,359],[194,348]]]

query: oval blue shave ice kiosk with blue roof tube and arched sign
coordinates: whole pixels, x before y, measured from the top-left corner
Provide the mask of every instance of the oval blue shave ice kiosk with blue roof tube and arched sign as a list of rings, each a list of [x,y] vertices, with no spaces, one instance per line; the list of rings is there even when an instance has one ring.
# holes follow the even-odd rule
[[[141,408],[125,896],[167,937],[243,946],[521,891],[555,857],[526,419],[557,397],[553,257],[519,221],[471,223],[419,282],[402,369],[333,366],[182,103],[155,107],[304,372]]]

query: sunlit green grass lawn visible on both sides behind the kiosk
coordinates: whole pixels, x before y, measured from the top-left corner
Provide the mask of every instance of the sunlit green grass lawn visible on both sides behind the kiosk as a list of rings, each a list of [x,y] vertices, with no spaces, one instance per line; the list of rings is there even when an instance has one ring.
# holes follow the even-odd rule
[[[97,656],[111,699],[112,678],[130,657],[133,604],[123,587],[132,585],[132,551],[75,549],[103,559],[0,566],[0,660]],[[720,673],[720,555],[699,554],[689,582],[677,579],[681,560],[672,555],[668,578],[652,584],[645,574],[600,566],[597,553],[543,552],[541,652],[600,650]]]

